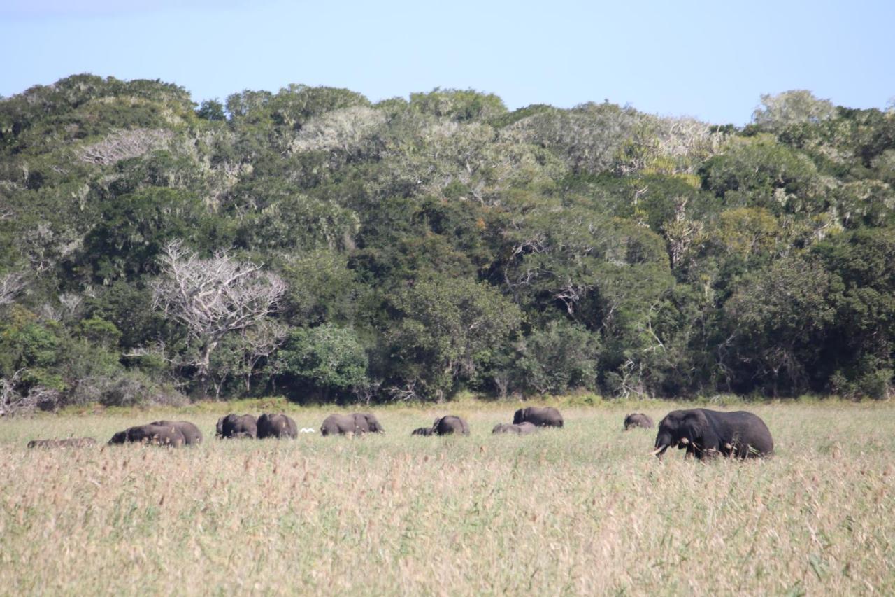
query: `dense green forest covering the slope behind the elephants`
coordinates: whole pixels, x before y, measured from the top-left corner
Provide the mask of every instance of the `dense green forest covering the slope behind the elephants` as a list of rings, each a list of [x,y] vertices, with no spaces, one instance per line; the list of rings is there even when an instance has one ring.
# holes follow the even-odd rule
[[[892,394],[895,110],[0,99],[0,408]]]

